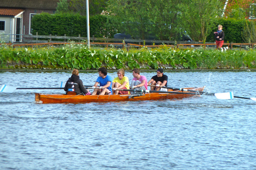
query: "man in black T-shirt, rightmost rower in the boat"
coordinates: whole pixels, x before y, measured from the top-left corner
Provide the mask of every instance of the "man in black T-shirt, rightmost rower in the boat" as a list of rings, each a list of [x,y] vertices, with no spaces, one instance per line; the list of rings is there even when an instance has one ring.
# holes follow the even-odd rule
[[[156,85],[157,91],[167,91],[167,88],[160,88],[160,86],[167,86],[168,76],[164,73],[164,69],[158,68],[156,71],[156,75],[153,76],[149,81],[148,84]],[[150,90],[154,90],[155,87],[151,86]]]

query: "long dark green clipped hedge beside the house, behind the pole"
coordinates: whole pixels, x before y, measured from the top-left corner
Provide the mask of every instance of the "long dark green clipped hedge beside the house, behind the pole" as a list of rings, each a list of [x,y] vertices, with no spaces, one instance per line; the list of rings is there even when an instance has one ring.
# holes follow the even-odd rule
[[[113,38],[116,29],[111,16],[96,15],[90,17],[90,36]],[[43,26],[42,26],[43,25]],[[35,15],[32,20],[32,34],[36,35],[58,35],[87,37],[87,21],[86,16],[79,14],[48,14],[41,13]]]

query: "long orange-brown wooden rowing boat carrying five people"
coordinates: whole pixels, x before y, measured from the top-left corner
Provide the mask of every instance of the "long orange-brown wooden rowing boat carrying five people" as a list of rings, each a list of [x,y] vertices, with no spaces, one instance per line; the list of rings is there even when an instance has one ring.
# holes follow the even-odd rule
[[[195,91],[203,91],[204,87],[200,88],[184,88]],[[199,96],[199,93],[185,92],[181,90],[171,90],[168,92],[154,91],[151,93],[136,93],[127,95],[66,95],[66,94],[42,94],[35,93],[36,103],[86,103],[86,102],[115,102],[115,101],[136,101],[136,100],[164,100],[164,99],[182,99],[192,96]]]

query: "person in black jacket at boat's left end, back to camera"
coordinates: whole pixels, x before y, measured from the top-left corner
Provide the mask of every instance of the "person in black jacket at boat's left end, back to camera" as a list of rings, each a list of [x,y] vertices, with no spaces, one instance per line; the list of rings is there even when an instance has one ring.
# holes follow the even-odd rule
[[[84,88],[84,84],[79,77],[79,72],[77,69],[73,69],[72,76],[66,82],[64,90],[66,94],[68,92],[76,92],[76,94],[82,95],[88,93],[88,91]]]

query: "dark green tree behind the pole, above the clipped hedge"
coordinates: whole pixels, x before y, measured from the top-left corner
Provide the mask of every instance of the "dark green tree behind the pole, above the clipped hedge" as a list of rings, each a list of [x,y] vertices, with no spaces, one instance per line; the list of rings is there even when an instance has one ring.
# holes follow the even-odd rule
[[[89,0],[90,16],[101,14],[106,9],[108,0]],[[86,0],[71,0],[70,7],[73,12],[86,16]]]

